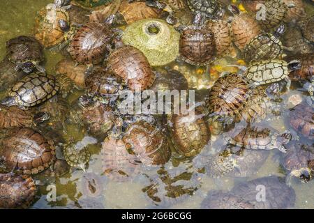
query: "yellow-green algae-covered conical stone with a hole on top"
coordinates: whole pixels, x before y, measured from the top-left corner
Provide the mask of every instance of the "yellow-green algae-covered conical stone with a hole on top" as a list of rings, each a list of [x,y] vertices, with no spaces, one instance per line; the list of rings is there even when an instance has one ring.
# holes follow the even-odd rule
[[[126,27],[124,44],[140,49],[151,66],[164,66],[179,55],[180,33],[163,20],[140,20]]]

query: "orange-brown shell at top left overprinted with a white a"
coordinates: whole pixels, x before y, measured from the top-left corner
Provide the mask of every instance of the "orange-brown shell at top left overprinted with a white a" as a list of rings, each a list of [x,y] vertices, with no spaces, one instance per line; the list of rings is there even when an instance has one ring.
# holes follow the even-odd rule
[[[48,4],[41,9],[35,19],[34,36],[45,47],[59,45],[65,40],[65,33],[59,26],[59,20],[70,21],[66,10]]]

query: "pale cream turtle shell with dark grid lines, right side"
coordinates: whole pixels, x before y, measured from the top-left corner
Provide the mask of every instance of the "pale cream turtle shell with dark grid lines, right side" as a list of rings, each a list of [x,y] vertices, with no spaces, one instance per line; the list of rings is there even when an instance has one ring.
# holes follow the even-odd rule
[[[279,82],[289,75],[287,62],[267,60],[250,63],[244,76],[255,85]]]

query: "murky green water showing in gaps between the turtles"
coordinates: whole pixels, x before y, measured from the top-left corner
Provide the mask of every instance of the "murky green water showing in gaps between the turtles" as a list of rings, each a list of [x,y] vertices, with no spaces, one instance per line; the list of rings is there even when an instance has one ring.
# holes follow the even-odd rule
[[[36,12],[51,3],[48,0],[0,0],[0,58],[5,56],[4,44],[6,40],[20,35],[31,35],[33,31],[34,17]],[[313,6],[307,5],[308,13],[314,11]],[[45,51],[45,68],[50,74],[54,74],[54,66],[63,58],[61,54],[52,51]],[[174,64],[174,66],[178,66]],[[182,70],[183,68],[178,68]],[[194,72],[197,71],[196,68]],[[202,69],[202,68],[200,68]],[[187,71],[186,71],[187,72]],[[193,77],[194,83],[208,84],[212,83],[214,79],[209,78],[208,75],[203,74],[195,75]],[[75,100],[82,92],[75,92],[69,97],[69,101]],[[283,100],[287,100],[290,95],[302,95],[297,89],[290,91],[282,96]],[[288,105],[293,107],[293,105]],[[278,118],[271,125],[283,132],[286,126],[283,118]],[[75,125],[68,126],[68,134],[75,139],[80,140],[84,137],[84,130],[77,130]],[[220,139],[220,136],[215,136],[214,139]],[[91,160],[89,162],[89,168],[87,172],[94,172],[100,176],[102,174],[101,160],[100,160],[100,142],[96,145],[89,146],[91,151]],[[276,175],[285,176],[281,171],[279,165],[274,162],[272,156],[274,151],[260,168],[260,171],[253,177],[259,178],[262,176]],[[182,162],[178,168],[185,168],[190,166],[190,162]],[[166,169],[173,169],[171,162],[166,165]],[[156,169],[147,170],[146,174],[155,174]],[[147,179],[139,174],[134,180],[125,183],[115,183],[112,180],[103,178],[103,191],[96,198],[84,197],[84,189],[82,189],[82,178],[84,172],[81,170],[73,170],[70,174],[62,176],[61,178],[46,178],[41,176],[35,176],[36,183],[38,184],[38,193],[36,202],[33,203],[31,208],[154,208],[154,204],[151,200],[142,192],[142,188],[147,186]],[[251,178],[250,178],[251,179]],[[236,181],[244,179],[235,179]],[[184,184],[184,183],[183,183]],[[56,185],[57,201],[47,201],[47,186]],[[184,199],[181,202],[170,206],[172,208],[200,208],[200,203],[204,199],[204,195],[209,190],[220,189],[230,190],[234,185],[233,178],[222,178],[220,182],[216,182],[206,175],[202,175],[200,179],[200,185],[198,190],[193,196]],[[307,184],[301,184],[299,180],[292,180],[292,187],[297,194],[297,201],[295,208],[314,208],[314,180]]]

